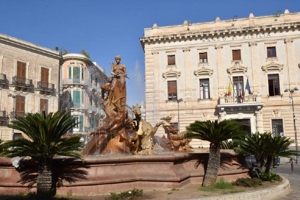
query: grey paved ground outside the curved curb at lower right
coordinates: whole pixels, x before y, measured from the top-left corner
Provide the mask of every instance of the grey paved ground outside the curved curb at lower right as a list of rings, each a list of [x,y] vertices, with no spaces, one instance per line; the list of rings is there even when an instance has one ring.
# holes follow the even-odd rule
[[[300,165],[294,164],[294,173],[291,170],[291,164],[281,164],[274,168],[274,172],[287,178],[291,185],[291,193],[285,197],[280,198],[281,200],[299,200],[300,199]]]

